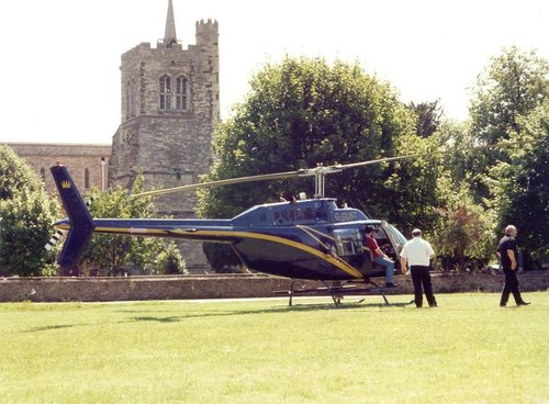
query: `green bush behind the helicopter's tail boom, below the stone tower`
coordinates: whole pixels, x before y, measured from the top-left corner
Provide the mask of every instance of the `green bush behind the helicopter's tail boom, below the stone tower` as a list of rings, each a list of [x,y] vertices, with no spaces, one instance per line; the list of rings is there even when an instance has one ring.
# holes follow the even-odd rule
[[[142,191],[143,175],[139,175],[131,193]],[[92,190],[92,195],[90,213],[94,217],[155,217],[152,198],[132,198],[130,191],[120,186],[104,193]],[[92,237],[82,259],[107,269],[110,274],[115,274],[130,265],[147,270],[163,249],[164,244],[157,238],[97,235]]]

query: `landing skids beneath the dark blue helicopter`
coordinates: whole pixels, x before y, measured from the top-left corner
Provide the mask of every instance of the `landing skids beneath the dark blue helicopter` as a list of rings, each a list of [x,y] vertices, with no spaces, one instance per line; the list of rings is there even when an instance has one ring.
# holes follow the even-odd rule
[[[371,281],[368,278],[365,278],[361,281],[344,281],[344,282],[332,282],[321,281],[324,287],[323,288],[310,288],[310,289],[295,289],[295,283],[299,280],[293,279],[290,285],[289,291],[276,291],[276,294],[285,294],[288,293],[290,300],[288,301],[288,305],[293,305],[293,296],[294,294],[306,294],[306,295],[325,295],[328,294],[332,296],[334,304],[338,306],[341,304],[341,300],[345,295],[349,294],[366,294],[370,292],[378,292],[385,302],[385,305],[389,305],[389,301],[385,296],[385,291],[383,287],[380,287],[376,282]],[[357,283],[363,283],[362,288],[359,288]],[[370,285],[368,288],[368,285]],[[363,299],[359,301],[359,303],[363,302]]]

